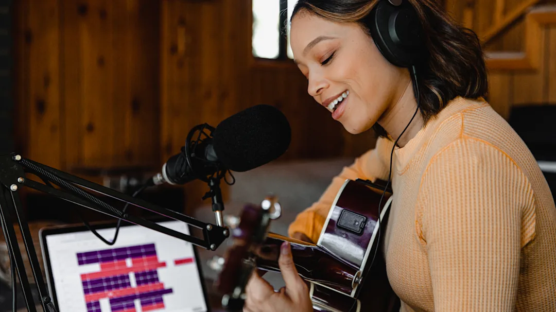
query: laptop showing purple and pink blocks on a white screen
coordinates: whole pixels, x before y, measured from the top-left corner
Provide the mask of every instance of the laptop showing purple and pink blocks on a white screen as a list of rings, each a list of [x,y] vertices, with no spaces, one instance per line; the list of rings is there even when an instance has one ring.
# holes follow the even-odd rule
[[[189,234],[181,221],[158,224]],[[96,225],[110,241],[115,223]],[[205,312],[210,305],[196,246],[122,224],[108,245],[84,225],[39,231],[48,291],[59,312]]]

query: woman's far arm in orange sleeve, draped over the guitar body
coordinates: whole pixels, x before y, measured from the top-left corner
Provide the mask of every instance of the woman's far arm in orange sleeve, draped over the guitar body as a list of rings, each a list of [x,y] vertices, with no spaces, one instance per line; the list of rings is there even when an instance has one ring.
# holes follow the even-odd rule
[[[379,138],[374,149],[356,158],[350,166],[344,167],[340,174],[332,179],[319,201],[297,215],[288,229],[288,235],[296,239],[305,241],[310,239],[316,242],[336,194],[346,179],[368,179],[373,182],[376,179],[388,179],[390,152],[393,145],[394,142]]]

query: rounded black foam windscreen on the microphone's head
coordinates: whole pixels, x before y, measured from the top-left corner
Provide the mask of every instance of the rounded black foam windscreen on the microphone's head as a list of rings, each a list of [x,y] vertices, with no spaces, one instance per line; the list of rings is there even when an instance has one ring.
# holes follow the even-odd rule
[[[256,105],[222,121],[212,133],[218,159],[232,171],[243,172],[267,164],[290,146],[291,128],[274,106]]]

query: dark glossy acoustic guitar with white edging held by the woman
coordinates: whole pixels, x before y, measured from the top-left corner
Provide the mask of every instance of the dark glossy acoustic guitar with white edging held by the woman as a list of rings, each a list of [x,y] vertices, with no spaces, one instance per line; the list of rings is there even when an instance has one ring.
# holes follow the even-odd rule
[[[384,196],[383,190],[370,181],[346,180],[316,244],[269,232],[276,210],[280,211],[275,197],[267,197],[261,205],[246,205],[239,225],[231,229],[234,244],[226,251],[215,284],[222,306],[241,311],[251,274],[255,269],[279,272],[280,246],[289,241],[314,310],[399,310],[381,250],[393,199],[391,190]]]

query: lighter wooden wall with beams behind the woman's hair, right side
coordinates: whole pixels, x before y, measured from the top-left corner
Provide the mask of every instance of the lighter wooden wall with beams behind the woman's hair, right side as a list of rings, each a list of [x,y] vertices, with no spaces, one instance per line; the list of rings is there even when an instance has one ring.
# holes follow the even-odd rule
[[[476,33],[486,33],[500,21],[500,16],[512,12],[528,0],[446,0],[446,9],[458,21],[469,23]],[[498,3],[498,4],[497,4]],[[537,6],[554,5],[543,1]],[[498,16],[498,17],[497,17]],[[527,48],[525,17],[527,13],[484,44],[488,52],[523,52]],[[537,70],[511,68],[489,69],[488,100],[495,110],[508,118],[514,105],[551,103],[556,105],[556,24],[545,24],[540,34],[539,66]]]

